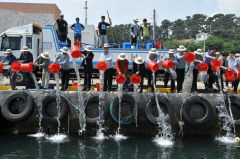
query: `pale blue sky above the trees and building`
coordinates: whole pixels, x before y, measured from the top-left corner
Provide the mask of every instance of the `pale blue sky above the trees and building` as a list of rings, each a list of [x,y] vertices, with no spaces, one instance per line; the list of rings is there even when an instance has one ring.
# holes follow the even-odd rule
[[[0,0],[0,2],[29,2],[33,0]],[[85,0],[35,0],[34,3],[55,3],[69,24],[79,17],[84,24]],[[212,16],[216,13],[240,16],[240,0],[88,0],[88,24],[97,26],[102,15],[109,11],[113,25],[129,24],[136,18],[147,18],[152,22],[153,9],[156,9],[157,24],[164,19],[174,21],[185,19],[193,14]],[[108,20],[106,20],[108,22]]]

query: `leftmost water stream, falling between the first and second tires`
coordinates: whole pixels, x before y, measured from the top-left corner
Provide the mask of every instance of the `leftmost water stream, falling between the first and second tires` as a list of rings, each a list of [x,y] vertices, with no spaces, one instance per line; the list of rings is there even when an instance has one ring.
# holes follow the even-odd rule
[[[32,78],[33,78],[33,81],[34,81],[34,84],[35,84],[35,87],[36,87],[36,93],[37,93],[37,104],[38,104],[38,113],[39,113],[39,118],[38,118],[38,133],[37,134],[40,134],[42,133],[43,129],[42,129],[42,98],[41,98],[41,94],[40,94],[40,89],[39,89],[39,86],[38,86],[38,82],[37,82],[37,79],[36,79],[36,76],[34,73],[30,72]]]

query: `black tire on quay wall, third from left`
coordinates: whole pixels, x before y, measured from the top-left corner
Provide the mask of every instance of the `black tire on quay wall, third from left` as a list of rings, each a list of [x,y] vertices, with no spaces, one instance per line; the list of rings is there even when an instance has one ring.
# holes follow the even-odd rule
[[[93,97],[90,97],[89,99],[85,100],[84,102],[85,104],[85,114],[86,114],[86,122],[87,124],[89,125],[96,125],[97,124],[97,120],[98,120],[98,117],[99,117],[99,111],[98,111],[98,106],[97,108],[94,107],[94,110],[97,109],[97,113],[93,113],[93,116],[92,115],[89,115],[88,114],[88,108],[91,108],[91,105],[99,105],[99,96],[93,96]],[[92,110],[90,110],[90,112],[92,112]],[[108,109],[107,109],[107,106],[106,106],[106,103],[104,105],[104,119],[107,117],[108,115]]]

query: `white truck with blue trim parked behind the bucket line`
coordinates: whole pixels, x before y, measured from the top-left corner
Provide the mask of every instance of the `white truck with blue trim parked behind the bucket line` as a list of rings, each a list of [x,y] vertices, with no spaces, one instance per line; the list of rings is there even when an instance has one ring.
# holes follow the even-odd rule
[[[68,37],[72,41],[71,46],[73,46],[73,31],[69,29]],[[94,72],[96,73],[96,65],[100,59],[101,53],[103,53],[103,49],[97,49],[97,34],[96,29],[93,25],[85,26],[85,30],[82,32],[82,42],[83,47],[85,45],[93,46],[93,65]],[[48,52],[50,55],[51,62],[54,61],[55,57],[61,53],[61,44],[58,40],[57,32],[55,30],[54,25],[46,25],[43,28],[37,24],[29,24],[19,27],[13,27],[5,32],[0,34],[0,60],[4,58],[3,52],[6,49],[12,49],[13,54],[18,58],[21,54],[21,49],[23,46],[27,45],[30,48],[30,52],[33,54],[33,58],[35,59],[42,52]],[[69,48],[70,50],[70,48]],[[129,59],[129,69],[132,68],[132,60],[134,57],[141,56],[143,59],[146,59],[148,51],[147,49],[122,49],[122,48],[112,48],[110,49],[113,55],[113,61],[116,61],[119,53],[125,53],[127,58]],[[168,50],[159,50],[160,56],[164,56]],[[78,64],[81,64],[81,59],[78,60]],[[72,59],[70,59],[70,64],[73,64]],[[113,63],[115,65],[115,62]],[[5,69],[8,69],[7,67]],[[71,70],[72,78],[75,78],[75,73],[73,69]],[[81,73],[81,69],[80,69]],[[37,76],[40,77],[40,76]],[[21,83],[23,77],[21,77],[21,73],[18,78],[18,83]]]

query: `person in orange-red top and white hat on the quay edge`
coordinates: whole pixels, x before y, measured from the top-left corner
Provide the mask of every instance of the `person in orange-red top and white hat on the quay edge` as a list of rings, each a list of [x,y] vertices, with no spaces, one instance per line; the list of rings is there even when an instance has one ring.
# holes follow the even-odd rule
[[[118,74],[124,74],[126,76],[126,73],[128,71],[128,59],[126,58],[126,55],[124,53],[121,53],[118,56],[118,59],[116,61],[116,70],[118,72]],[[126,77],[126,82],[123,85],[123,90],[125,90],[128,87],[128,82],[129,82],[129,78]]]

